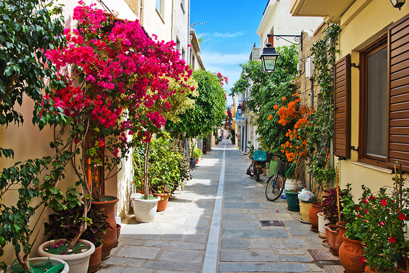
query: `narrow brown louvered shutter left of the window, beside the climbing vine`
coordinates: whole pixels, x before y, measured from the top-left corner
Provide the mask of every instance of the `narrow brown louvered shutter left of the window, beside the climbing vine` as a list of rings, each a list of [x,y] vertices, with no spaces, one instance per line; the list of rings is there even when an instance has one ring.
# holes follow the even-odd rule
[[[350,158],[351,57],[334,64],[334,155]]]

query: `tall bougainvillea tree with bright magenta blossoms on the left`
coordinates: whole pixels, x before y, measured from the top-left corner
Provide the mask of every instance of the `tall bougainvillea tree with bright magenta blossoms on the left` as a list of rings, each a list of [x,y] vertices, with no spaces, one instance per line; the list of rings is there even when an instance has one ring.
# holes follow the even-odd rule
[[[151,137],[160,134],[164,114],[172,108],[170,97],[195,88],[189,85],[192,70],[180,59],[174,41],[151,39],[138,21],[115,22],[95,4],[79,3],[73,12],[78,29],[65,29],[67,44],[48,51],[47,57],[66,83],[50,99],[71,121],[56,133],[55,143],[77,154],[71,161],[87,219],[91,198],[101,200],[101,185],[119,171],[131,147],[145,143],[148,161]],[[86,226],[84,221],[81,231]]]

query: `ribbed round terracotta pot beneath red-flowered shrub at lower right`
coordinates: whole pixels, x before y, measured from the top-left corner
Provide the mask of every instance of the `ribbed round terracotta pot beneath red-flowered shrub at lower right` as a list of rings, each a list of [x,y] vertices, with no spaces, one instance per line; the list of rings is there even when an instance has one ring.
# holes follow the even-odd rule
[[[361,263],[363,258],[363,246],[361,241],[351,240],[343,236],[343,243],[340,247],[339,256],[341,265],[345,268],[345,273],[362,273],[365,270],[366,262]]]

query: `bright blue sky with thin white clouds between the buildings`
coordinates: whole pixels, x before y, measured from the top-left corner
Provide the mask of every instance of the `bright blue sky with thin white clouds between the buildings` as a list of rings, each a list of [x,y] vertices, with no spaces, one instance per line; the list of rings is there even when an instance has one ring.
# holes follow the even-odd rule
[[[198,37],[203,38],[200,57],[206,70],[221,72],[229,77],[230,88],[239,78],[238,64],[245,63],[254,43],[260,47],[256,35],[268,0],[191,0],[190,21],[208,22],[194,26]],[[228,97],[228,104],[232,98]]]

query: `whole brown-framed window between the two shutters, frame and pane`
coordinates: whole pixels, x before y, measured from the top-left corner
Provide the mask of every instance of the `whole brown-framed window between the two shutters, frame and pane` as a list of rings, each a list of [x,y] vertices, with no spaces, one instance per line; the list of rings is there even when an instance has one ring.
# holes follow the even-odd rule
[[[386,167],[388,135],[388,48],[386,36],[360,54],[359,159]]]

